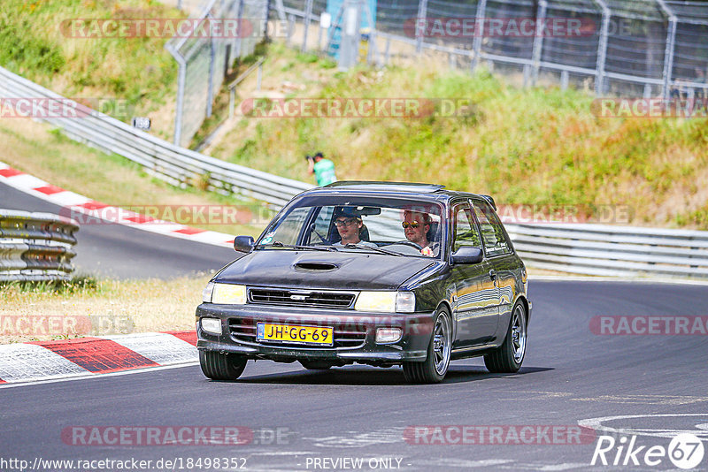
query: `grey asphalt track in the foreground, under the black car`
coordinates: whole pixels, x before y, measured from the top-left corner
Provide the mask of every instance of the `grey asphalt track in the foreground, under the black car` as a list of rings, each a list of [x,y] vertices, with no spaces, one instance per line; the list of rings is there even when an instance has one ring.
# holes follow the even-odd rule
[[[708,336],[599,336],[589,328],[593,316],[705,315],[706,286],[532,281],[529,295],[535,306],[527,358],[515,375],[491,375],[480,360],[471,360],[453,362],[443,384],[409,385],[396,368],[315,372],[264,361],[250,362],[236,382],[209,381],[189,366],[5,387],[0,457],[30,463],[165,458],[192,470],[204,466],[186,468],[189,458],[216,457],[235,458],[245,470],[381,466],[371,458],[392,459],[393,469],[406,471],[679,470],[666,458],[656,467],[591,467],[596,438],[581,445],[421,445],[404,439],[413,425],[508,430],[610,416],[620,418],[600,423],[623,433],[637,430],[636,445],[666,447],[669,439],[656,435],[671,430],[693,431],[708,445]],[[632,415],[641,416],[626,417]],[[245,426],[257,432],[246,445],[63,442],[65,428],[89,425]],[[280,444],[270,444],[267,431],[278,428]],[[610,461],[616,451],[608,453]],[[333,466],[342,458],[364,462],[361,468]],[[708,451],[694,470],[707,468]],[[147,469],[158,470],[154,462]]]

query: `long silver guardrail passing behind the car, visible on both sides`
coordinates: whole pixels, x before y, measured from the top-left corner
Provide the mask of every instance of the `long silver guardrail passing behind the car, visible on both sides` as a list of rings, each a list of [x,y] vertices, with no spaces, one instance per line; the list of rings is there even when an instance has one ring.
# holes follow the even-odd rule
[[[62,99],[3,68],[0,97]],[[44,120],[64,128],[77,141],[127,157],[176,186],[202,181],[208,190],[278,207],[314,187],[180,148],[98,112],[85,118]],[[530,267],[600,276],[708,278],[708,232],[552,223],[506,227]]]

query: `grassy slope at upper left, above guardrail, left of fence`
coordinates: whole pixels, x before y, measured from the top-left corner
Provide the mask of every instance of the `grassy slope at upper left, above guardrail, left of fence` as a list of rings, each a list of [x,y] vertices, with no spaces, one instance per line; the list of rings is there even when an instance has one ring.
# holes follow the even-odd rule
[[[3,0],[0,65],[94,108],[101,103],[109,114],[150,115],[157,132],[168,138],[178,67],[164,48],[167,40],[72,37],[63,24],[70,19],[184,16],[154,0]],[[112,99],[125,101],[121,106],[129,111]]]

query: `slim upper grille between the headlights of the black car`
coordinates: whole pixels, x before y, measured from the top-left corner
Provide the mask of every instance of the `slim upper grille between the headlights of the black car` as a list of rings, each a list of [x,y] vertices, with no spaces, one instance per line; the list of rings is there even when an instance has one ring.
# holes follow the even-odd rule
[[[249,302],[290,307],[350,308],[354,293],[250,288]]]

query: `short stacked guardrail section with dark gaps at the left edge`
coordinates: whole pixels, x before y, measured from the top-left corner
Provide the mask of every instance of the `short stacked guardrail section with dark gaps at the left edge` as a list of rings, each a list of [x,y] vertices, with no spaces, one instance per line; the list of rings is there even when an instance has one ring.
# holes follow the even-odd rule
[[[65,217],[0,209],[0,280],[68,279],[77,231]]]

